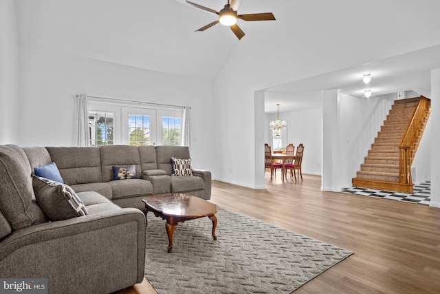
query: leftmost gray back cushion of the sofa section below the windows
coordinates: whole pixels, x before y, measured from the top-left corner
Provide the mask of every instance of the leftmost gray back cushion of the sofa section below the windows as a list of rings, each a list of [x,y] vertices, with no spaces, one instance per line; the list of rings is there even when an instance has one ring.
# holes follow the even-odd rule
[[[46,147],[65,184],[101,182],[99,147]]]

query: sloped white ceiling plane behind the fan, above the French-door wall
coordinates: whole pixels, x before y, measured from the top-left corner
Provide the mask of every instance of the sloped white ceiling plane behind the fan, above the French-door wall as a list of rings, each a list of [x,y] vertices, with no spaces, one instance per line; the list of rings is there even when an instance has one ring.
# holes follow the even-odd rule
[[[217,11],[227,3],[193,2]],[[276,14],[287,2],[248,0],[239,11]],[[215,78],[240,42],[220,24],[195,32],[217,15],[184,0],[17,0],[16,10],[22,45],[181,76]],[[245,37],[258,34],[256,22],[239,25]]]

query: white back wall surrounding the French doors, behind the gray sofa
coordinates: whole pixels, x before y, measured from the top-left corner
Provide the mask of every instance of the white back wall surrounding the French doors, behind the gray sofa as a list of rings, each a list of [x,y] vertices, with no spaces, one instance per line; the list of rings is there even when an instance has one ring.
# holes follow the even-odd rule
[[[21,48],[20,57],[19,145],[75,145],[74,94],[85,93],[190,105],[193,165],[201,169],[214,166],[211,82],[33,48]]]

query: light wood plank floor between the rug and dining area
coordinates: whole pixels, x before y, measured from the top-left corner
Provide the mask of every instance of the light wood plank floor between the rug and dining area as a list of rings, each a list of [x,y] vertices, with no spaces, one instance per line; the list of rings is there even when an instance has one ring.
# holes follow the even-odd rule
[[[440,209],[322,192],[320,176],[303,179],[267,172],[259,190],[213,181],[210,201],[355,252],[295,294],[440,293]],[[125,293],[155,293],[144,290]]]

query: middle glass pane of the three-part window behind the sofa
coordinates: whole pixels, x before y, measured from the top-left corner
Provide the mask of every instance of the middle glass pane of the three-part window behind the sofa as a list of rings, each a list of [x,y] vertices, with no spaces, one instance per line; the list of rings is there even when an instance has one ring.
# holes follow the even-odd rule
[[[129,145],[150,145],[150,116],[129,114]]]

